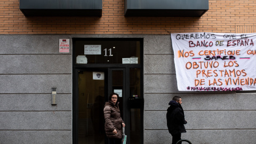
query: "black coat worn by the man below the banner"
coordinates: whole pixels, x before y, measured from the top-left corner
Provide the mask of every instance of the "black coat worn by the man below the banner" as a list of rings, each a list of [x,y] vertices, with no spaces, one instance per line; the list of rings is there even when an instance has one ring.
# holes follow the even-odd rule
[[[184,124],[187,124],[185,120],[184,111],[181,105],[176,101],[169,102],[170,107],[167,109],[167,127],[169,133],[177,134],[186,132]]]

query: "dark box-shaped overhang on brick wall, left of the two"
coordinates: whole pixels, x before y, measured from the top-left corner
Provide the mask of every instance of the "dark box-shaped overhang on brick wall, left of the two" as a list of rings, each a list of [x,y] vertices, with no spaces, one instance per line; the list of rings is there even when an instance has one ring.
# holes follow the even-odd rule
[[[26,17],[101,17],[102,0],[20,0],[20,10]]]

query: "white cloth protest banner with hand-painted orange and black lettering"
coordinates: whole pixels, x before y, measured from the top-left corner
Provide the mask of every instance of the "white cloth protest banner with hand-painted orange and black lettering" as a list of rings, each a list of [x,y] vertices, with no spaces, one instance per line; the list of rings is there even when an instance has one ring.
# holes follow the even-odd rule
[[[256,33],[171,34],[179,91],[256,90]]]

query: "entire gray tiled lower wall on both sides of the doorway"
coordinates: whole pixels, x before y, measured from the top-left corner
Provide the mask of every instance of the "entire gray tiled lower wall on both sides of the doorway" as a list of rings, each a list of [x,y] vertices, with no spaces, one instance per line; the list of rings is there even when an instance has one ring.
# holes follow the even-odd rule
[[[143,38],[144,143],[171,143],[165,115],[174,95],[182,97],[188,121],[182,138],[256,143],[255,93],[178,91],[170,35],[1,35],[1,144],[72,142],[72,46],[70,53],[58,49],[60,38],[72,37]]]

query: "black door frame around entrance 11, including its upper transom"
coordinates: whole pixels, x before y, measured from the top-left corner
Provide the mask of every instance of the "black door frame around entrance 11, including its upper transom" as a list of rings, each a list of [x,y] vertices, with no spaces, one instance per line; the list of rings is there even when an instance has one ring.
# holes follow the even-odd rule
[[[123,40],[128,40],[128,41],[140,41],[140,64],[123,64],[123,63],[104,63],[104,64],[100,64],[100,63],[95,63],[95,64],[76,64],[76,55],[75,55],[75,51],[76,51],[76,45],[75,45],[75,41],[76,39],[85,39],[85,40],[93,40],[93,41],[97,41],[97,39],[99,39],[99,41],[123,41]],[[143,38],[72,38],[73,41],[73,54],[72,54],[72,61],[73,61],[73,71],[72,71],[72,79],[73,79],[73,89],[72,89],[72,141],[74,144],[78,143],[78,87],[76,86],[78,83],[78,70],[79,69],[97,69],[97,68],[113,68],[113,69],[122,69],[125,68],[125,79],[126,79],[126,84],[125,86],[130,86],[130,68],[140,68],[140,93],[141,93],[141,97],[142,99],[144,98],[144,75],[143,75]],[[128,87],[129,88],[129,87]],[[109,88],[108,88],[109,89]],[[126,89],[126,87],[125,87]],[[129,95],[130,92],[127,91],[129,89],[126,89],[126,95]],[[108,90],[106,90],[107,92]],[[127,99],[129,97],[127,96]],[[124,102],[123,102],[124,103]],[[127,107],[127,105],[129,105],[129,102],[127,100],[127,103],[124,103]],[[127,109],[126,109],[127,110]],[[123,115],[124,118],[127,119],[127,126],[130,126],[130,118],[127,111],[125,113],[126,115]],[[140,119],[140,123],[141,123],[141,144],[144,141],[144,104],[142,106],[142,108],[140,109],[140,114],[141,114],[141,119]],[[125,120],[126,120],[125,119]],[[130,133],[130,129],[125,130],[126,134]],[[127,143],[130,143],[130,138],[127,138]]]

